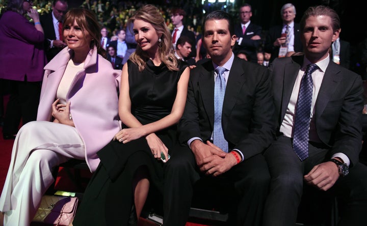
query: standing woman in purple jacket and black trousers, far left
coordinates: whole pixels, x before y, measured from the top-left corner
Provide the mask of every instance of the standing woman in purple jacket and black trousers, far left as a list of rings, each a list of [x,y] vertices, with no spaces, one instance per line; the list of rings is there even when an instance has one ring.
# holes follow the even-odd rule
[[[10,88],[4,139],[15,138],[20,119],[23,124],[36,120],[46,64],[43,41],[43,29],[32,1],[8,0],[7,10],[0,18],[0,79]]]

